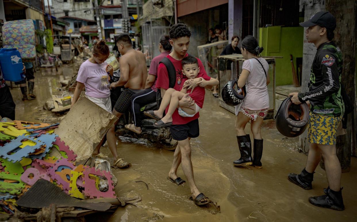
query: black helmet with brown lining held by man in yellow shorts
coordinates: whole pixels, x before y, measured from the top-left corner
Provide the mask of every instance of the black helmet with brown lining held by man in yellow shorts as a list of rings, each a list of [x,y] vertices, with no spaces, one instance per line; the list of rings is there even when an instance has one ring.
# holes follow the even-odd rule
[[[275,125],[278,131],[287,137],[300,136],[306,129],[309,120],[309,107],[291,102],[291,96],[280,105],[275,115]]]

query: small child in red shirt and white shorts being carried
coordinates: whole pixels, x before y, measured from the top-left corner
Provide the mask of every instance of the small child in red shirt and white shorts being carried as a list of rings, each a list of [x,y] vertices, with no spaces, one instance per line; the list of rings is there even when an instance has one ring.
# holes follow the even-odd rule
[[[198,67],[197,58],[194,56],[187,56],[182,59],[182,73],[185,74],[185,82],[183,83],[183,87],[181,91],[176,91],[173,88],[169,88],[166,90],[164,97],[162,98],[162,102],[160,108],[158,110],[150,110],[148,112],[144,112],[147,116],[152,117],[154,119],[158,119],[158,121],[154,124],[154,127],[166,127],[172,125],[172,114],[174,114],[176,108],[178,108],[178,114],[181,117],[193,117],[203,106],[203,100],[205,100],[205,88],[198,87],[193,92],[193,89],[188,89],[190,84],[198,80],[198,86],[202,85],[217,85],[219,82],[217,79],[211,79],[210,77],[206,77],[203,73],[200,72],[200,67]],[[189,107],[177,107],[178,101],[182,99],[185,95],[190,95],[190,97],[195,101],[194,104]],[[164,117],[165,108],[169,106],[167,113]]]

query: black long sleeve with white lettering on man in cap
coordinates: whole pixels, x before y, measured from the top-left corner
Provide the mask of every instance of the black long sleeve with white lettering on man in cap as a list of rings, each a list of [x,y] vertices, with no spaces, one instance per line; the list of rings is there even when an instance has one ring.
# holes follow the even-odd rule
[[[335,61],[337,60],[333,54],[331,55],[331,53],[329,53],[327,55],[333,58]],[[319,59],[319,61],[322,61],[322,58]],[[320,64],[320,68],[323,76],[321,86],[309,92],[299,93],[298,99],[300,102],[312,98],[315,100],[325,99],[328,95],[331,95],[340,89],[340,78],[336,62],[333,62],[332,65],[329,66],[327,66],[327,63]]]

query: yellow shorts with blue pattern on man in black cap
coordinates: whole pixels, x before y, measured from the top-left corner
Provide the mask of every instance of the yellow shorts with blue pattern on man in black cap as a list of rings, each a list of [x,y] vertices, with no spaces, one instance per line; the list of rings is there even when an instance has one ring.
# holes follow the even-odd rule
[[[336,144],[337,128],[340,122],[341,117],[330,117],[310,112],[307,126],[308,143]]]

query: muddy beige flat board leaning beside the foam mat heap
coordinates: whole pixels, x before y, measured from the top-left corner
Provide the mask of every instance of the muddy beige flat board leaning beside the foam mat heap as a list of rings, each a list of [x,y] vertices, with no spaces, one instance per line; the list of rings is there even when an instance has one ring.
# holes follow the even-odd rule
[[[89,99],[81,97],[55,129],[55,134],[77,154],[77,161],[88,159],[117,119]]]

